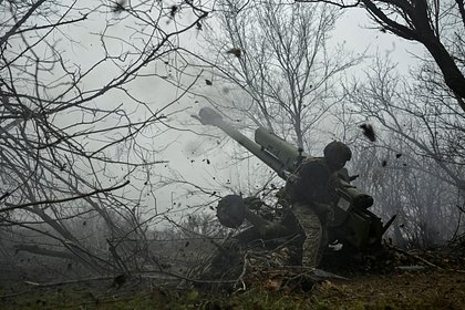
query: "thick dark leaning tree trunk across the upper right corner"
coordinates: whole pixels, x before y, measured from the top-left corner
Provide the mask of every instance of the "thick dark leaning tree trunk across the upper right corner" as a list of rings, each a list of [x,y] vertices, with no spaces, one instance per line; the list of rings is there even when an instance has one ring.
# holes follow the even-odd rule
[[[442,72],[443,80],[465,111],[465,4],[463,0],[299,0],[361,7],[381,31],[423,44]]]

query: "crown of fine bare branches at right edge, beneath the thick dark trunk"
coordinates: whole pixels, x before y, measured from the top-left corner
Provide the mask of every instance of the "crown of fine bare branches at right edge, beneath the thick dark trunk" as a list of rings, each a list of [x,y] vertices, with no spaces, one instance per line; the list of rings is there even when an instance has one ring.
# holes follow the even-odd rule
[[[353,112],[405,138],[414,153],[441,167],[445,182],[464,192],[464,117],[455,108],[455,97],[424,74],[424,68],[416,76],[417,82],[409,81],[389,60],[378,58],[369,82],[350,91]]]

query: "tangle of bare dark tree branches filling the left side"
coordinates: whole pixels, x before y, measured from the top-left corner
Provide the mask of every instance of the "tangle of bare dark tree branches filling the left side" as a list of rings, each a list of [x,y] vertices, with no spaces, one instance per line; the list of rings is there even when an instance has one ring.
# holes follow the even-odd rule
[[[19,251],[125,271],[159,215],[156,137],[185,94],[151,106],[137,83],[166,80],[180,37],[208,11],[38,0],[2,1],[0,13],[0,229]]]

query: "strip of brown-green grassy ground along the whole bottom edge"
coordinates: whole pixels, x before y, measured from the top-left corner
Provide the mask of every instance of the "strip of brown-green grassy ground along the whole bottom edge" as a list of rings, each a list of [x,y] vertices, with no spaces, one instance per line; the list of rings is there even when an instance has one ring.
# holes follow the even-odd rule
[[[133,282],[120,289],[110,286],[111,279],[3,287],[0,309],[465,309],[465,273],[452,270],[324,280],[307,292],[249,288],[225,294]]]

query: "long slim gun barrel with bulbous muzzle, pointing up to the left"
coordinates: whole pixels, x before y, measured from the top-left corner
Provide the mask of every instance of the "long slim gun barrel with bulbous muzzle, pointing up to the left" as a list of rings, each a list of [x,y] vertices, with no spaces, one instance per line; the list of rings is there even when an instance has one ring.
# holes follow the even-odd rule
[[[200,108],[199,118],[202,124],[204,125],[213,125],[220,128],[225,132],[228,136],[237,141],[240,145],[246,147],[250,153],[255,156],[260,158],[264,163],[266,163],[270,168],[272,168],[278,175],[286,179],[286,170],[283,163],[272,155],[270,152],[265,149],[261,145],[255,143],[254,141],[249,140],[236,128],[234,128],[230,124],[223,121],[221,115],[210,107],[203,107]]]

